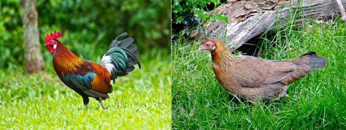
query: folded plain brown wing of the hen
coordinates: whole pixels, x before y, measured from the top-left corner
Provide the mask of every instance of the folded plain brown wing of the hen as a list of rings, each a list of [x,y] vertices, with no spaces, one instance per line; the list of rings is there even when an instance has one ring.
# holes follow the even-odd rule
[[[267,60],[242,56],[241,63],[230,67],[233,77],[243,87],[260,87],[279,82],[296,70],[296,65],[286,60]]]

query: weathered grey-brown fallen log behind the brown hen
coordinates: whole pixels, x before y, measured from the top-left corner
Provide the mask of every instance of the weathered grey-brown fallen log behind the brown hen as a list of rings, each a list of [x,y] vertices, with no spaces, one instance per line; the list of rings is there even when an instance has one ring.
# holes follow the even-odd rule
[[[346,0],[341,0],[341,3],[346,5]],[[301,3],[297,0],[228,0],[214,14],[223,13],[229,22],[208,22],[205,28],[209,36],[225,37],[225,44],[234,51],[249,40],[260,37],[273,24],[285,25],[284,19],[292,17],[296,9],[299,15],[295,14],[293,24],[307,19],[323,22],[339,14],[335,0],[303,0]],[[204,40],[206,35],[195,31],[190,37]]]

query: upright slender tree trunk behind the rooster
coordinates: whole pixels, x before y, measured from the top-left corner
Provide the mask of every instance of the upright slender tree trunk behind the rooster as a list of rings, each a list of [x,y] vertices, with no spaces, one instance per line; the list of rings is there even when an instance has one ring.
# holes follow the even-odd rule
[[[39,41],[36,0],[21,0],[20,5],[25,47],[25,69],[29,73],[35,73],[44,69]]]

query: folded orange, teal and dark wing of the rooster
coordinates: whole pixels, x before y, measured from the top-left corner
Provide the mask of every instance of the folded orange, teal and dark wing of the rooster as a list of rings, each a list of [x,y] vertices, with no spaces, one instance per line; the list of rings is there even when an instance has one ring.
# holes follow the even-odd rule
[[[70,88],[79,89],[93,98],[108,98],[113,87],[107,70],[97,63],[84,61],[76,71],[62,74],[61,80]]]

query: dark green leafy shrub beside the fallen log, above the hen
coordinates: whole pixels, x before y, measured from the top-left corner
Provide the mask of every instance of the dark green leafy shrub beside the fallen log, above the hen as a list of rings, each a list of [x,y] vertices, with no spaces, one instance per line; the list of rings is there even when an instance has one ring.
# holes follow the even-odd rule
[[[224,2],[219,0],[172,1],[172,37],[177,36],[181,31],[182,35],[189,35],[194,29],[203,30],[203,25],[207,21],[222,20],[227,22],[228,18],[223,14],[214,14],[216,7]]]

